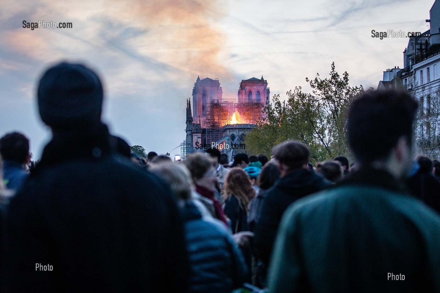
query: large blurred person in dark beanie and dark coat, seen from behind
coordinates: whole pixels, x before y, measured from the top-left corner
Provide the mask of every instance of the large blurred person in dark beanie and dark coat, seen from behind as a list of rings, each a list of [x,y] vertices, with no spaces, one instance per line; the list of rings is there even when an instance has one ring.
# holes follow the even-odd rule
[[[41,78],[53,137],[6,219],[4,292],[186,292],[183,224],[157,176],[117,154],[103,88],[61,63]]]

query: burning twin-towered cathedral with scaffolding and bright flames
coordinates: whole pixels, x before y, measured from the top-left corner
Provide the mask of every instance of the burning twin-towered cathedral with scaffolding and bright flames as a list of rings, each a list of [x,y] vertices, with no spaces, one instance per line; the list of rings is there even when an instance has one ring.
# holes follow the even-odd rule
[[[256,127],[269,101],[268,82],[252,77],[242,80],[237,98],[223,98],[218,78],[197,77],[191,99],[187,100],[186,139],[181,143],[182,160],[187,154],[217,147],[229,160],[245,153],[246,133]],[[192,105],[192,106],[191,106]]]

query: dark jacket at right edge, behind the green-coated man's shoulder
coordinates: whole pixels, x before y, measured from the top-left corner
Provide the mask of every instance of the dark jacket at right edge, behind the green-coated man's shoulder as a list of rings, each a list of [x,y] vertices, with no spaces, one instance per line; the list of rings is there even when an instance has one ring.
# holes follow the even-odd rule
[[[431,172],[418,170],[406,181],[410,194],[440,214],[440,182]]]

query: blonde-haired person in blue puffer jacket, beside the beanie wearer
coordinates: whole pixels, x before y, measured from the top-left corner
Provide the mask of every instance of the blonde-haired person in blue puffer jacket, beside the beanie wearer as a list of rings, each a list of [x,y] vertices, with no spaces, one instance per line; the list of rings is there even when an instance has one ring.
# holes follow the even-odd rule
[[[150,170],[165,180],[177,196],[185,222],[190,259],[190,292],[231,292],[245,281],[242,253],[220,220],[205,220],[191,200],[193,183],[182,164],[160,162]]]

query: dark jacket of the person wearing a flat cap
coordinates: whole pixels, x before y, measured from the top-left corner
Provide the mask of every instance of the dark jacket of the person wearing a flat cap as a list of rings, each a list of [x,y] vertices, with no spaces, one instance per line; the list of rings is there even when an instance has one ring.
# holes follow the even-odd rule
[[[306,169],[297,169],[280,178],[263,200],[255,225],[254,243],[260,259],[268,264],[282,214],[299,198],[330,187],[330,181]]]

